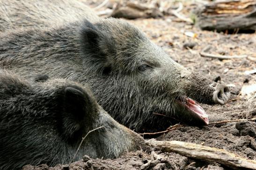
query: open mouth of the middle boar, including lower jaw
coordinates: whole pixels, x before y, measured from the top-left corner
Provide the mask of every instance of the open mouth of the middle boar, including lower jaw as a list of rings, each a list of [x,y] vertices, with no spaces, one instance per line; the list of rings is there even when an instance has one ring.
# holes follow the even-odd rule
[[[208,115],[205,113],[205,110],[194,100],[186,96],[179,97],[176,100],[179,104],[183,105],[187,112],[190,112],[191,116],[200,119],[205,125],[209,124]]]

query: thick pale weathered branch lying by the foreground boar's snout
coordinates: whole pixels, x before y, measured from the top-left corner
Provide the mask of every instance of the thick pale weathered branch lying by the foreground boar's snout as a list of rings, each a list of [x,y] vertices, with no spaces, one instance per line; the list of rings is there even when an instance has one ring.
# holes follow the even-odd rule
[[[227,150],[180,141],[156,141],[150,139],[146,140],[146,144],[163,152],[176,152],[190,158],[220,163],[233,169],[256,170],[255,160],[242,158]]]

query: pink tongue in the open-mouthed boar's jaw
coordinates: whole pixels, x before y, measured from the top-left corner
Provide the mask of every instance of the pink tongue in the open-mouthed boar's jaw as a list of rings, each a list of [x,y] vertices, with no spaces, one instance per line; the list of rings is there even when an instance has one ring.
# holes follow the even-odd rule
[[[206,124],[209,124],[208,115],[205,113],[205,110],[201,106],[199,106],[195,101],[188,98],[186,105],[190,110],[192,110],[198,116],[200,116],[205,121]]]

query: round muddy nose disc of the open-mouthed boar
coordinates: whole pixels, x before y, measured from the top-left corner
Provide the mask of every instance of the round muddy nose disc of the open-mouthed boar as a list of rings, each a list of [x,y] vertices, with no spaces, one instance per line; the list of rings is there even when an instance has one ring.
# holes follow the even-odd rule
[[[227,103],[230,97],[230,90],[227,85],[224,84],[222,81],[218,81],[216,86],[214,87],[215,91],[212,95],[212,100],[216,104],[225,104]]]

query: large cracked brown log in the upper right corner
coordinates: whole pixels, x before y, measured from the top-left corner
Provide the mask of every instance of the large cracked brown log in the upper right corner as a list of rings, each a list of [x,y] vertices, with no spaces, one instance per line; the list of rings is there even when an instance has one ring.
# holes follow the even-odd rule
[[[203,30],[256,30],[256,0],[222,0],[195,11]]]

